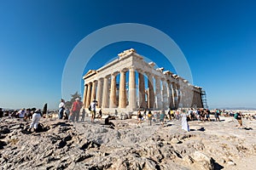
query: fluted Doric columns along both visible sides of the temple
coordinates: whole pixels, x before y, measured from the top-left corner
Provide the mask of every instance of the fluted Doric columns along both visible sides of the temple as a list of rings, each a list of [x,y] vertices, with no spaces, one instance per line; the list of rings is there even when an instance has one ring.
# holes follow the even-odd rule
[[[118,74],[119,93],[116,86]],[[145,76],[148,79],[147,90],[145,88]],[[138,95],[136,82],[138,82]],[[177,83],[166,81],[166,79],[150,73],[138,72],[138,81],[136,81],[136,69],[131,67],[129,69],[129,94],[126,92],[126,70],[122,70],[84,85],[83,101],[85,107],[88,108],[94,99],[97,100],[100,108],[126,108],[128,104],[129,109],[137,109],[138,107],[174,109],[178,108],[181,92]]]

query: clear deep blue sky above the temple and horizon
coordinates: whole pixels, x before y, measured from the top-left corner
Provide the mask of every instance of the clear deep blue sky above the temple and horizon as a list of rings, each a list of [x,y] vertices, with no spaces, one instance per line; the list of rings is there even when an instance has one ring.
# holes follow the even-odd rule
[[[256,107],[253,0],[0,0],[0,107],[57,108],[62,71],[76,44],[104,26],[127,22],[172,37],[210,107]],[[102,48],[90,63],[99,68],[126,48],[172,70],[158,51],[137,42]]]

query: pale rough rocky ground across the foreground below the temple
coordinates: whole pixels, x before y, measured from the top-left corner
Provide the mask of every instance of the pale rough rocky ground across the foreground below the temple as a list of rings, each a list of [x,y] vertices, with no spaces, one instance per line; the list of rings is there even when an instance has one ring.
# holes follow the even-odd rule
[[[212,117],[213,118],[213,117]],[[69,123],[41,119],[44,132],[28,133],[30,122],[0,120],[1,169],[255,169],[256,120],[244,128],[232,117],[221,122],[177,120],[148,126],[136,120]]]

